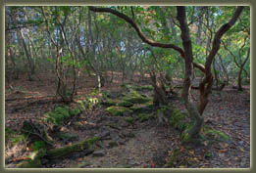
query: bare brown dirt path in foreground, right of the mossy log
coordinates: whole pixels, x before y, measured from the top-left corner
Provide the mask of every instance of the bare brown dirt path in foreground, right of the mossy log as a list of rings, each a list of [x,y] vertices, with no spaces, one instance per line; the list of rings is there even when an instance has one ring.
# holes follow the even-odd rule
[[[150,167],[157,151],[167,151],[167,146],[172,146],[172,141],[161,138],[155,127],[134,129],[132,133],[134,137],[125,144],[103,150],[106,153],[104,156],[87,156],[86,159],[92,163],[87,167]]]

